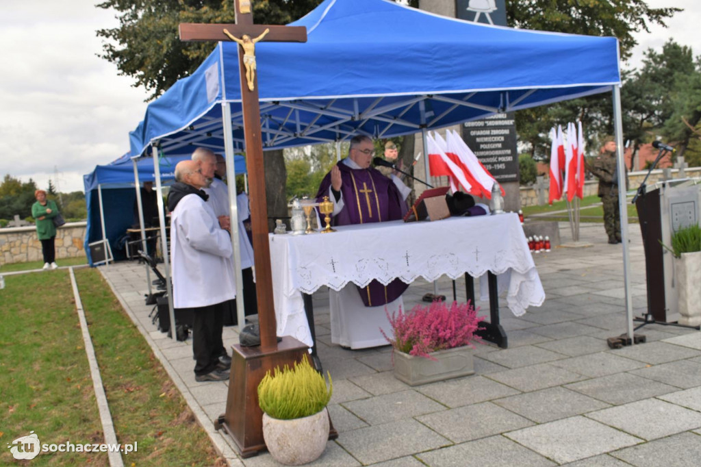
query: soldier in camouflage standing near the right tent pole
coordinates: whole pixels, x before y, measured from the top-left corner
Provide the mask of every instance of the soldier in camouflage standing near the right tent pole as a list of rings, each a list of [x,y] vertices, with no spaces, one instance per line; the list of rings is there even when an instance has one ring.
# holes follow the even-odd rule
[[[616,172],[616,144],[613,136],[604,138],[601,154],[587,168],[599,179],[599,198],[604,205],[604,229],[608,243],[620,243],[620,210],[618,207],[618,174]],[[627,184],[626,175],[626,184]]]

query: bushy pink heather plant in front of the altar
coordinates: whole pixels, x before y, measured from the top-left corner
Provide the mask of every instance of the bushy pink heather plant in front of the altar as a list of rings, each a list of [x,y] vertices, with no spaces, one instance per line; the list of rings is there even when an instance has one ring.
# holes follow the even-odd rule
[[[410,313],[399,313],[387,318],[392,325],[394,339],[390,339],[384,330],[382,335],[392,344],[393,349],[436,360],[431,352],[472,345],[473,341],[481,338],[475,335],[477,323],[482,316],[467,303],[453,302],[448,307],[444,302],[433,302],[429,306],[416,305]]]

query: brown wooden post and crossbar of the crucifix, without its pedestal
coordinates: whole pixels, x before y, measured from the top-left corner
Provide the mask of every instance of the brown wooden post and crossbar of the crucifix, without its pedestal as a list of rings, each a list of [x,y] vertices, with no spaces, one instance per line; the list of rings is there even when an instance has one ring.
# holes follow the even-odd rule
[[[270,42],[306,42],[306,27],[254,25],[250,1],[234,0],[236,24],[200,25],[180,24],[182,41],[229,41],[231,36],[261,38]],[[226,29],[226,32],[224,30]],[[266,30],[268,33],[266,34]],[[264,35],[261,37],[261,35]],[[258,103],[257,76],[252,80],[246,76],[245,54],[239,49],[238,69],[241,77],[241,104],[243,107],[243,129],[246,143],[246,165],[249,180],[251,229],[253,237],[253,258],[256,266],[256,297],[261,346],[275,348],[275,307],[273,305],[273,280],[270,266],[270,245],[268,245],[268,207],[265,193],[265,168],[263,165],[263,142],[261,139],[261,117]],[[252,89],[248,86],[253,81]]]

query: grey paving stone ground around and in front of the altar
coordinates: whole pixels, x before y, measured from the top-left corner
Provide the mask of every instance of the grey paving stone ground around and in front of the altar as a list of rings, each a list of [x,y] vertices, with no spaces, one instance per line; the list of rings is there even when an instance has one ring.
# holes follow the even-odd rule
[[[569,225],[560,229],[569,240]],[[644,253],[638,226],[629,232],[633,314],[641,316]],[[608,348],[606,338],[627,329],[622,248],[606,242],[601,224],[583,224],[580,239],[593,246],[534,255],[545,303],[517,318],[502,298],[509,348],[479,346],[470,377],[407,386],[393,376],[390,348],[348,351],[330,342],[328,293],[316,292],[318,352],[334,379],[329,412],[339,438],[311,465],[697,466],[701,332],[646,325],[637,331],[646,344]],[[239,459],[215,431],[228,381],[197,383],[191,340],[173,341],[151,323],[144,266],[100,271],[229,464],[276,465],[267,453]],[[433,285],[412,284],[407,308],[426,292]],[[452,299],[448,279],[439,292]],[[477,304],[489,314],[488,302]],[[226,327],[226,346],[237,342],[236,328]]]

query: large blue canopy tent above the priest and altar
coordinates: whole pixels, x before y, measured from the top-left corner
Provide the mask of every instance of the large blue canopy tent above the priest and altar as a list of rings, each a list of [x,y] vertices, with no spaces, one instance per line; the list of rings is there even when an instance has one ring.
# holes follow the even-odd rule
[[[264,149],[355,134],[425,134],[611,91],[622,168],[618,39],[482,25],[388,0],[325,0],[290,25],[306,27],[306,43],[256,46]],[[233,147],[243,148],[239,48],[224,39],[196,72],[149,104],[130,135],[132,156],[155,144],[224,149],[227,159]],[[618,174],[622,184],[623,171]],[[620,204],[632,339],[623,193]]]

